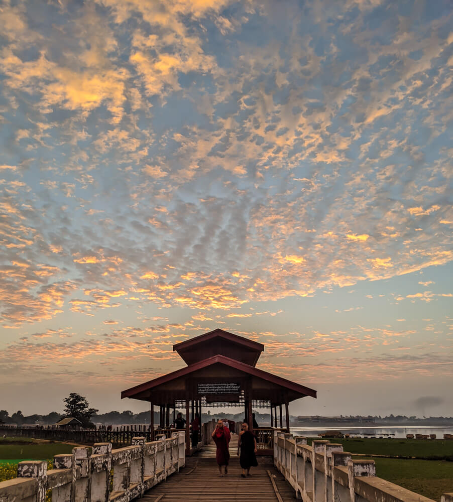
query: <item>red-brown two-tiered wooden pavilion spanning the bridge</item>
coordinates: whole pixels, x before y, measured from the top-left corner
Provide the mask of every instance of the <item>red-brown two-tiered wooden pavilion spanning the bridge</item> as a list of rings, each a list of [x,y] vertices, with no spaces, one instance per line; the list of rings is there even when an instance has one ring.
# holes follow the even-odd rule
[[[274,375],[256,364],[264,345],[248,338],[215,329],[190,340],[173,345],[187,364],[144,384],[121,393],[121,398],[148,401],[151,406],[150,428],[154,431],[154,406],[160,407],[160,427],[170,426],[170,409],[186,410],[186,444],[189,447],[189,413],[201,418],[204,406],[244,407],[245,419],[253,430],[252,407],[271,410],[271,427],[280,427],[282,406],[285,406],[286,430],[289,432],[288,404],[311,396],[316,391]]]

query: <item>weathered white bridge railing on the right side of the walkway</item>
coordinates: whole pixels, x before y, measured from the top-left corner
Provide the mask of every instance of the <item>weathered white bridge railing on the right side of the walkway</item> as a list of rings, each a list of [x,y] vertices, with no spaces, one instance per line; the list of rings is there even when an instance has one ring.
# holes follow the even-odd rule
[[[374,460],[353,460],[343,445],[275,432],[274,465],[304,502],[434,502],[376,477]],[[453,482],[452,482],[453,486]],[[453,502],[445,493],[441,502]]]

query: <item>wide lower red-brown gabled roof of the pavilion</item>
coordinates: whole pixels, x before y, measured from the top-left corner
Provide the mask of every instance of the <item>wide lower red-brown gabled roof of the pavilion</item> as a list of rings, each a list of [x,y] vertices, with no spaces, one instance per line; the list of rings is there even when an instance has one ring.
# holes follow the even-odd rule
[[[281,401],[284,402],[284,399],[287,399],[288,402],[294,401],[295,399],[300,399],[305,396],[311,396],[316,398],[316,391],[305,387],[300,384],[296,384],[281,376],[274,375],[272,373],[268,373],[262,369],[258,369],[256,367],[250,366],[249,364],[244,364],[236,359],[232,359],[230,357],[225,357],[224,355],[215,355],[204,359],[202,361],[198,361],[194,364],[190,364],[185,368],[178,369],[171,373],[168,373],[163,376],[159,376],[154,380],[150,380],[144,384],[140,384],[138,386],[132,387],[131,389],[127,389],[121,393],[121,398],[132,398],[132,399],[140,399],[143,401],[153,400],[153,394],[167,393],[170,398],[169,393],[171,390],[171,383],[175,383],[178,379],[184,382],[187,381],[192,375],[192,373],[199,372],[203,368],[207,368],[214,365],[223,365],[226,366],[225,375],[229,376],[232,373],[232,370],[238,370],[246,376],[249,376],[252,381],[256,384],[256,389],[253,389],[252,383],[252,399],[273,399],[275,402],[275,397],[271,398],[267,395],[270,395],[271,392],[273,396],[278,396]],[[194,375],[196,376],[196,375]],[[234,377],[233,377],[234,379]],[[264,385],[264,387],[262,387]],[[161,387],[161,389],[159,389]],[[175,393],[177,391],[174,391]],[[183,396],[184,399],[192,399],[187,396],[187,392],[182,389],[180,386],[178,387],[178,392],[180,396]],[[176,394],[175,394],[176,395]],[[267,397],[266,397],[267,396]],[[160,399],[160,398],[159,398]],[[176,399],[182,399],[181,397],[176,397]],[[155,400],[153,400],[155,404],[158,404]]]

